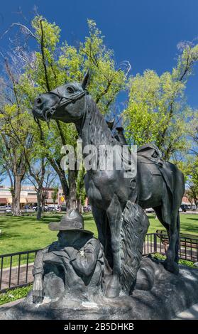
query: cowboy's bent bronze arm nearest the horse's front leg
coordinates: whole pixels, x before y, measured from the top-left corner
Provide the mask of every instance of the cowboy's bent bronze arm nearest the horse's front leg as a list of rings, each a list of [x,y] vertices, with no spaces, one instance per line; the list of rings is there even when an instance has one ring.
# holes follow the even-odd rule
[[[89,240],[89,242],[87,242],[87,244],[85,244],[82,249],[79,249],[75,259],[72,259],[72,266],[80,274],[89,276],[94,271],[99,256],[99,251],[99,240],[94,238]]]

